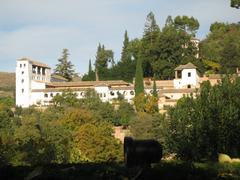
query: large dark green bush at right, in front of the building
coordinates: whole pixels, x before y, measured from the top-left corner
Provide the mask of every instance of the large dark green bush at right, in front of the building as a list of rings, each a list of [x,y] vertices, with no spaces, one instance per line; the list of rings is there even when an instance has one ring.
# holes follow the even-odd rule
[[[188,160],[239,157],[239,88],[239,78],[226,77],[213,87],[204,83],[196,99],[179,100],[165,118],[169,149]]]

